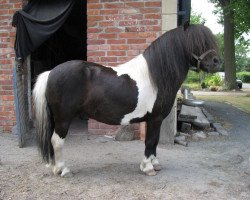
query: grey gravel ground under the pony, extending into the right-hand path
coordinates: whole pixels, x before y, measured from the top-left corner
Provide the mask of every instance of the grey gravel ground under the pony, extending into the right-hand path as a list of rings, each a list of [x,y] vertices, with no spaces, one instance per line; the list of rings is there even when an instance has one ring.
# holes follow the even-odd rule
[[[250,199],[250,116],[227,104],[205,107],[230,136],[159,146],[163,169],[153,177],[139,170],[142,141],[70,135],[65,158],[73,177],[61,178],[35,146],[20,149],[15,136],[0,134],[0,199]]]

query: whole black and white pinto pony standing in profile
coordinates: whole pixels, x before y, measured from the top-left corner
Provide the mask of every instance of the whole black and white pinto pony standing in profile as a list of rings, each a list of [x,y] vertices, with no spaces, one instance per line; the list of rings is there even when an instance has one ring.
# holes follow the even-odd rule
[[[33,90],[36,132],[43,159],[54,174],[70,174],[62,148],[77,115],[111,125],[146,121],[147,175],[160,170],[156,158],[160,127],[190,66],[216,72],[217,44],[203,25],[185,25],[164,33],[142,54],[117,67],[73,60],[39,75]]]

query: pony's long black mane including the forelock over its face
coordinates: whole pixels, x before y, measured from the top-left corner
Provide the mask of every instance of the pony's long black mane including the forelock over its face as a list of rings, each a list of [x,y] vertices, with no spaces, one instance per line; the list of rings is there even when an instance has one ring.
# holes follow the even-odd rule
[[[154,84],[161,94],[177,92],[184,81],[192,53],[217,49],[212,32],[203,25],[183,26],[156,39],[143,53]],[[163,97],[164,98],[164,97]]]

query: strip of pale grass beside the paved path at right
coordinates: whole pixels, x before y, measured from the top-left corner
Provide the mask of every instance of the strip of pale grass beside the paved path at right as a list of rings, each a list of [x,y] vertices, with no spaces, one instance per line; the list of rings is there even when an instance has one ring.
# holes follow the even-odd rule
[[[250,114],[250,94],[243,96],[196,96],[197,99],[229,103]]]

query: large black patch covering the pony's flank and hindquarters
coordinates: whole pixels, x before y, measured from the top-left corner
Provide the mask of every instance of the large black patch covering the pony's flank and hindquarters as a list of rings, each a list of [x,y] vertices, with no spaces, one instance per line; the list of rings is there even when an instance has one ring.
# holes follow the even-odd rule
[[[69,61],[54,68],[46,93],[55,124],[64,124],[56,125],[55,130],[63,133],[68,121],[82,114],[119,125],[124,115],[135,110],[138,101],[136,82],[128,75],[117,76],[112,68],[84,61]]]

